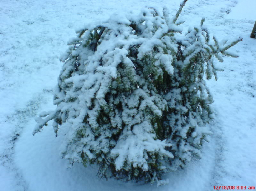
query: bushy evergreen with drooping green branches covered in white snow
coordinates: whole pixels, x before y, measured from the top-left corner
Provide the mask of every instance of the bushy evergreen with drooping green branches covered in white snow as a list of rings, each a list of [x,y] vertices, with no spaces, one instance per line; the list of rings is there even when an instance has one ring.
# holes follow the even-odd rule
[[[214,57],[242,39],[220,44],[204,19],[182,32],[177,18],[145,8],[77,31],[69,42],[54,96],[55,111],[37,118],[33,134],[53,120],[65,131],[63,158],[96,163],[100,177],[144,180],[184,167],[210,134],[213,102],[206,79]]]

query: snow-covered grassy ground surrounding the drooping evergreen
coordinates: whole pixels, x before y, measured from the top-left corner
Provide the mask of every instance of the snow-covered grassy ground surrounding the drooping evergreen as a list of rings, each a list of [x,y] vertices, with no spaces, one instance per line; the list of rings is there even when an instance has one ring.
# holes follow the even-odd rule
[[[218,39],[241,36],[243,41],[232,47],[239,58],[216,60],[224,71],[218,81],[207,82],[216,116],[202,159],[167,174],[169,184],[100,180],[96,167],[82,164],[67,169],[51,124],[32,135],[34,117],[55,108],[59,56],[76,36],[75,29],[145,6],[167,6],[175,14],[180,1],[0,0],[0,191],[212,191],[214,186],[256,186],[256,39],[249,38],[255,0],[188,0],[184,7],[184,28],[205,17]]]

